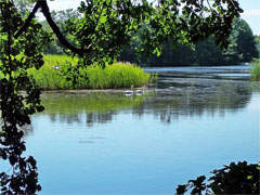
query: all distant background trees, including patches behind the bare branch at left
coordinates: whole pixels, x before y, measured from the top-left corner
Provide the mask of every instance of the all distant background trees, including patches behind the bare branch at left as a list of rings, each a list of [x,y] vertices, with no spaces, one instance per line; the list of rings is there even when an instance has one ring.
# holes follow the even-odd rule
[[[70,18],[80,17],[78,11],[73,9],[52,11],[52,16],[61,31],[69,40],[69,32],[65,24]],[[41,24],[47,31],[51,30],[46,21]],[[185,43],[185,41],[180,43],[169,39],[164,42],[160,55],[147,55],[146,53],[151,52],[146,52],[148,49],[142,46],[142,37],[147,30],[151,29],[144,24],[130,44],[122,48],[118,61],[141,66],[218,66],[246,63],[253,57],[259,57],[260,36],[253,36],[250,26],[242,18],[236,18],[233,23],[227,49],[219,48],[214,43],[213,37],[195,44]],[[64,54],[66,49],[53,37],[53,41],[46,47],[43,52],[46,54]]]

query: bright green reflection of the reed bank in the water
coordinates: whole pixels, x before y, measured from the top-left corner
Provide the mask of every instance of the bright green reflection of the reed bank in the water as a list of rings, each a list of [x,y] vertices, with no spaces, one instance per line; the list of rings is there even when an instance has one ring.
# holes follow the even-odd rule
[[[107,123],[118,110],[131,108],[142,102],[144,96],[125,96],[122,93],[50,94],[42,102],[51,121],[65,123]]]

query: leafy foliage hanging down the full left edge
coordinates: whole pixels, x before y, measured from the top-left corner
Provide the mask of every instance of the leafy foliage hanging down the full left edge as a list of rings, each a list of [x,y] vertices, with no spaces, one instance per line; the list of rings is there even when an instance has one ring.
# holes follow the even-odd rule
[[[23,25],[21,15],[11,1],[1,1],[0,11],[0,157],[9,161],[12,170],[10,174],[0,173],[1,194],[35,194],[41,186],[38,184],[36,160],[31,156],[23,156],[26,147],[22,128],[30,123],[30,115],[43,110],[43,107],[40,105],[40,91],[26,70],[42,66],[39,51],[49,40],[49,35],[34,21],[23,37],[15,40],[14,32]]]

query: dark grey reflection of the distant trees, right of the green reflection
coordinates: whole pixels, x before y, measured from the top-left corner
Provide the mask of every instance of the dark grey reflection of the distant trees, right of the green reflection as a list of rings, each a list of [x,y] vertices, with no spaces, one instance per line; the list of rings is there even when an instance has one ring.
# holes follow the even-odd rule
[[[180,87],[181,86],[181,87]],[[249,82],[220,81],[214,83],[186,82],[178,87],[158,90],[155,96],[145,99],[133,109],[134,115],[153,114],[164,123],[185,117],[225,116],[237,112],[251,99]]]

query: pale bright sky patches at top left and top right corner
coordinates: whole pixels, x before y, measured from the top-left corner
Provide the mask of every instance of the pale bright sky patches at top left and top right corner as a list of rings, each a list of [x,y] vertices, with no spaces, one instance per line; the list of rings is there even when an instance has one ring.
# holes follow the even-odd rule
[[[66,10],[77,9],[82,0],[49,0],[49,6],[51,10]],[[255,35],[260,35],[260,0],[239,0],[244,13],[244,18],[251,27]]]

